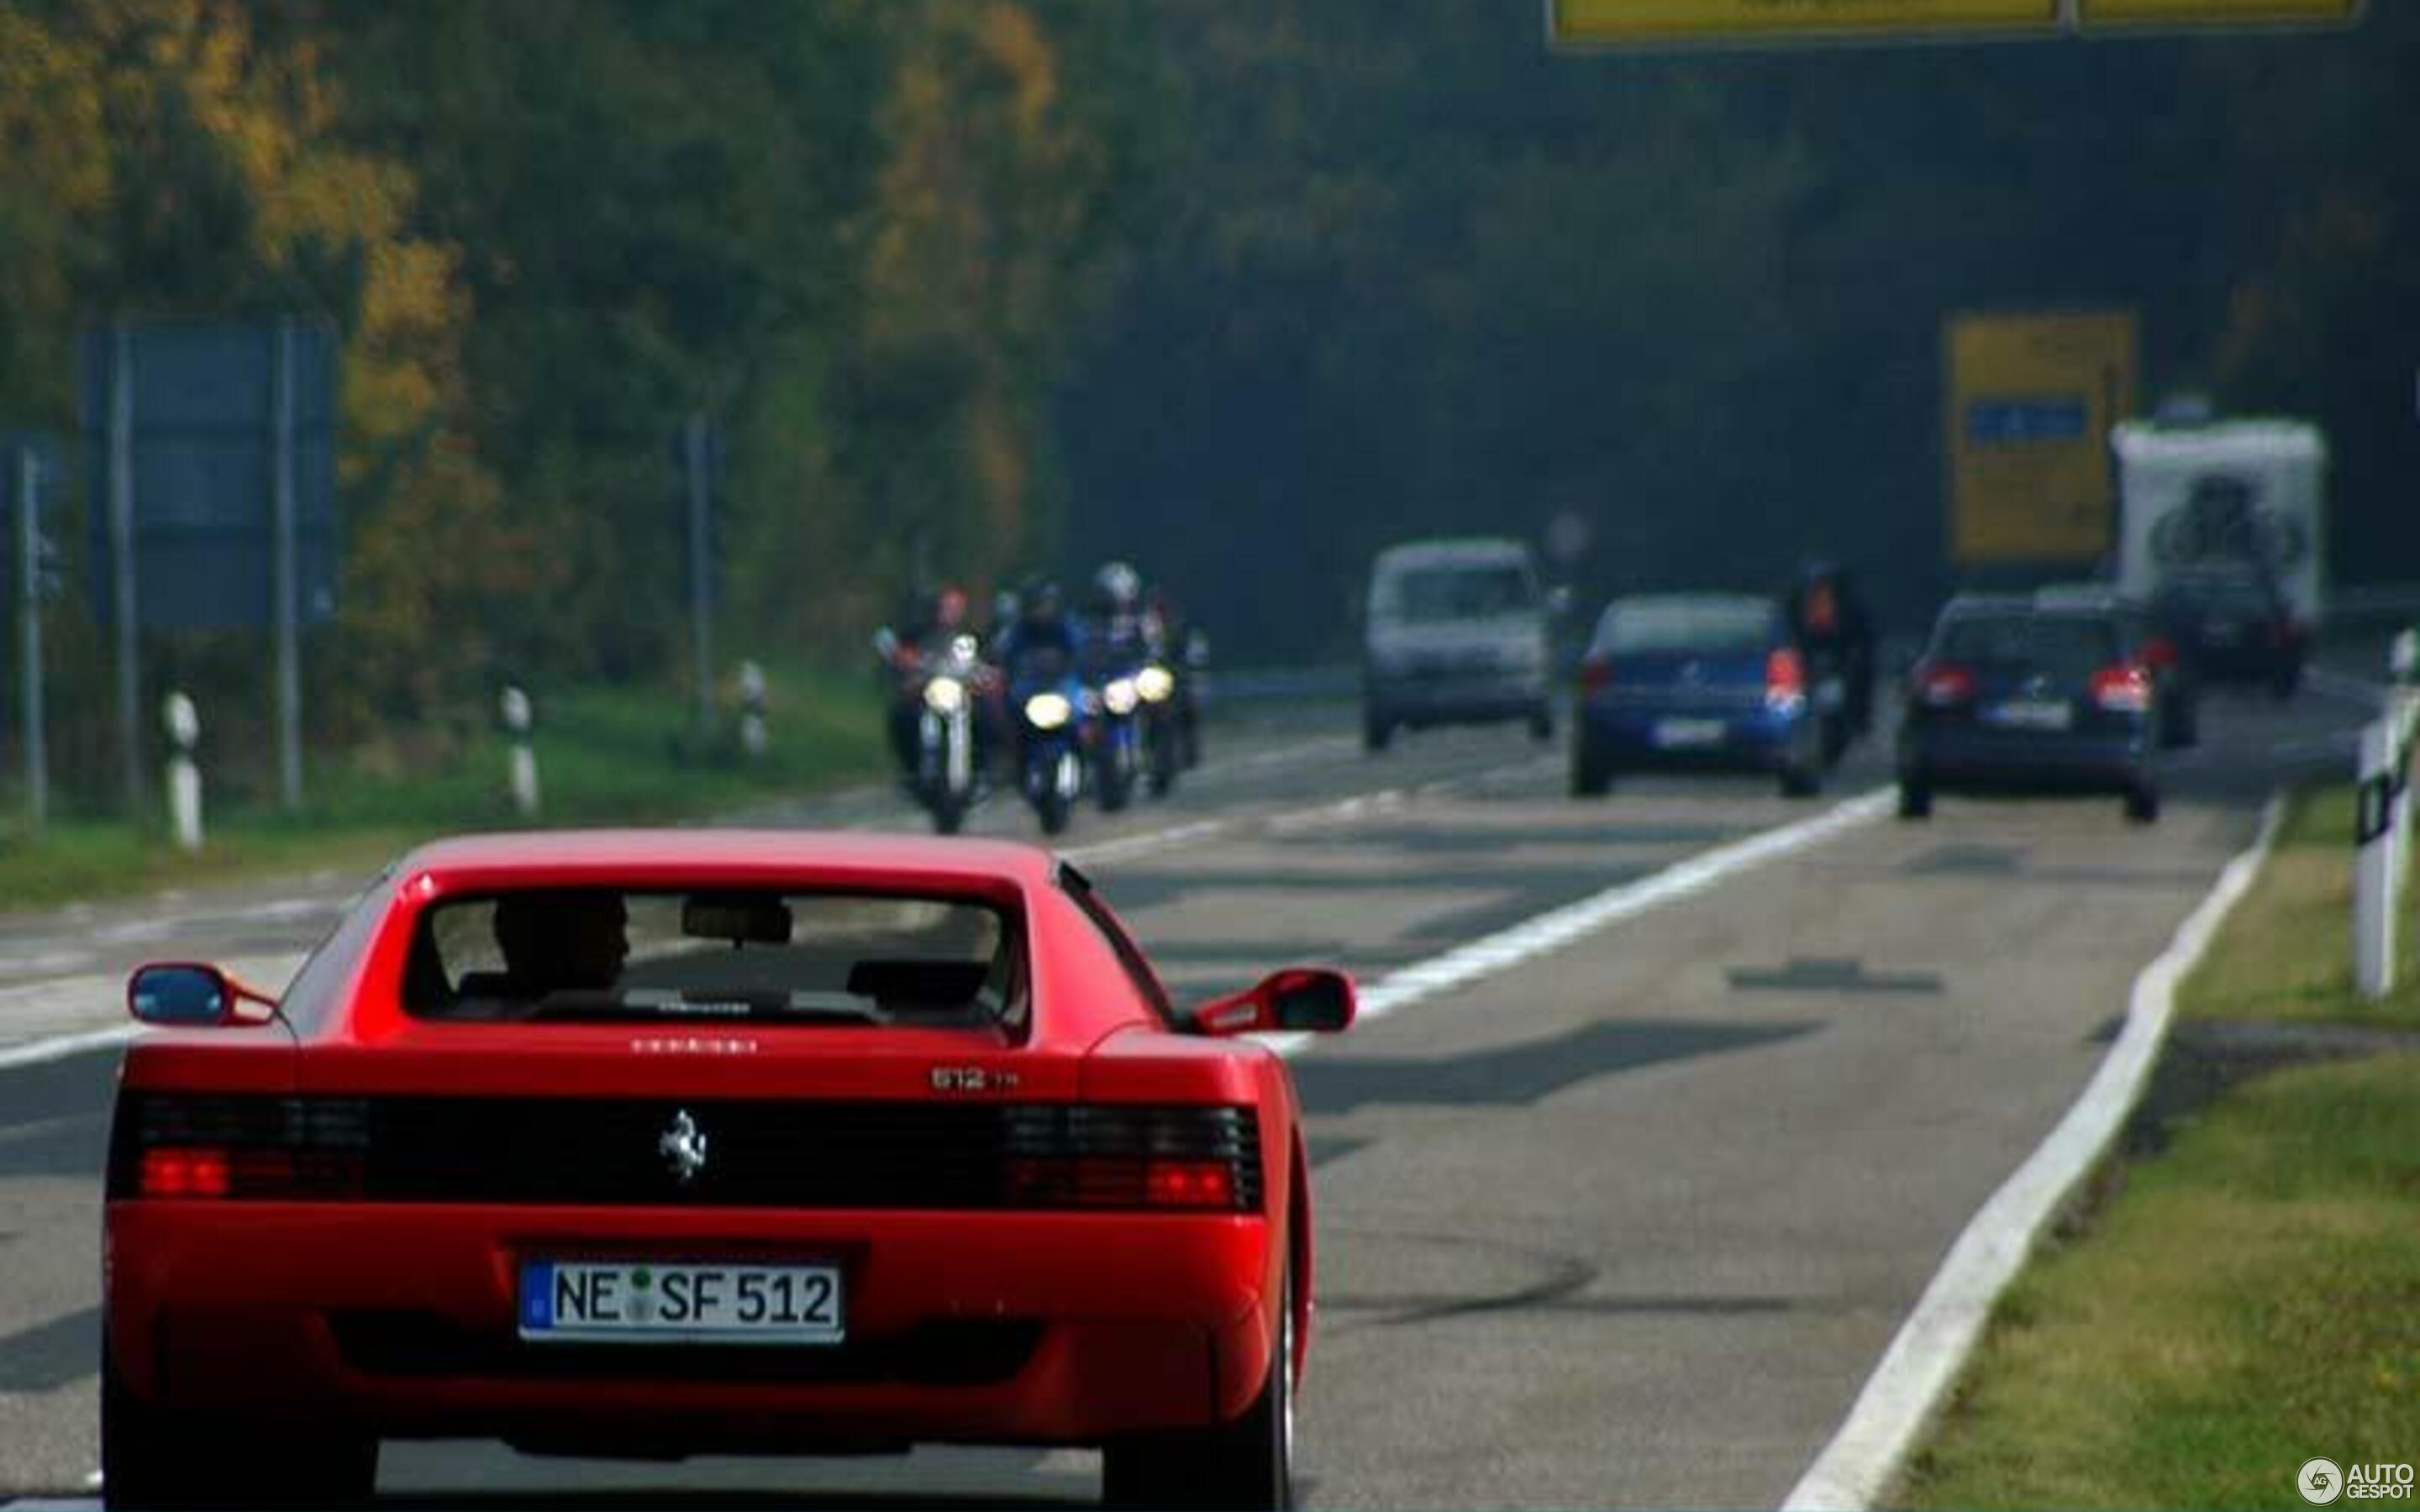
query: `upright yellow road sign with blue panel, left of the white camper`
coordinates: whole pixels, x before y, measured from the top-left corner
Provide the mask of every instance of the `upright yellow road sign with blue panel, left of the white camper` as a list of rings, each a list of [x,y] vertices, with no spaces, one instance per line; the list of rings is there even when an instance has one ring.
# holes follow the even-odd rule
[[[1951,561],[2101,559],[2108,433],[2134,411],[2134,312],[1955,314],[1941,346]]]

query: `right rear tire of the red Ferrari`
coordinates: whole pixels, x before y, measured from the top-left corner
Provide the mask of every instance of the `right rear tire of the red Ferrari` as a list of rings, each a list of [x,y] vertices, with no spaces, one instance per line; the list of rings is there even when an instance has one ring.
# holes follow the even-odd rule
[[[1101,1454],[1101,1500],[1111,1507],[1295,1505],[1295,1268],[1278,1292],[1278,1347],[1268,1379],[1244,1415],[1220,1427],[1135,1435]]]

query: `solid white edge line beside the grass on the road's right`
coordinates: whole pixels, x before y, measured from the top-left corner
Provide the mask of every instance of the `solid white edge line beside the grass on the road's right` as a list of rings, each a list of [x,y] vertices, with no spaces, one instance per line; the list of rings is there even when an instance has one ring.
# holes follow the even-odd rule
[[[2159,960],[2134,977],[2127,997],[2125,1028],[2101,1057],[2101,1069],[2084,1096],[2067,1110],[2059,1127],[2026,1156],[1992,1198],[1975,1212],[1948,1258],[1907,1314],[1900,1333],[1873,1367],[1873,1377],[1849,1408],[1832,1442],[1808,1473],[1781,1500],[1784,1512],[1849,1512],[1873,1507],[1892,1485],[1900,1466],[1965,1367],[1992,1304],[2016,1277],[2033,1241],[2050,1224],[2067,1193],[2091,1171],[2118,1130],[2125,1127],[2142,1084],[2168,1038],[2176,1014],[2176,985],[2209,948],[2229,910],[2260,876],[2284,803],[2270,798],[2260,815],[2260,837],[2219,873],[2200,907],[2176,927],[2176,939]]]

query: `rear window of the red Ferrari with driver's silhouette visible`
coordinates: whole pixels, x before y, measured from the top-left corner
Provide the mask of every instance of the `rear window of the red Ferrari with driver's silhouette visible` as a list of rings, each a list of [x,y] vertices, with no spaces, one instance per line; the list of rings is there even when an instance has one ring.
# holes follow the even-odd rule
[[[421,912],[404,1009],[440,1021],[1019,1028],[1021,931],[966,898],[520,890]]]

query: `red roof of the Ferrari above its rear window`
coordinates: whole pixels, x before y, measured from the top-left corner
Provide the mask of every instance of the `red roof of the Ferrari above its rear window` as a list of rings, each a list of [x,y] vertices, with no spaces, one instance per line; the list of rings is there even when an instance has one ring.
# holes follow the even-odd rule
[[[934,888],[1002,893],[1048,888],[1060,861],[1012,839],[869,835],[857,830],[508,830],[433,839],[394,876],[448,876],[477,885],[733,883]]]

